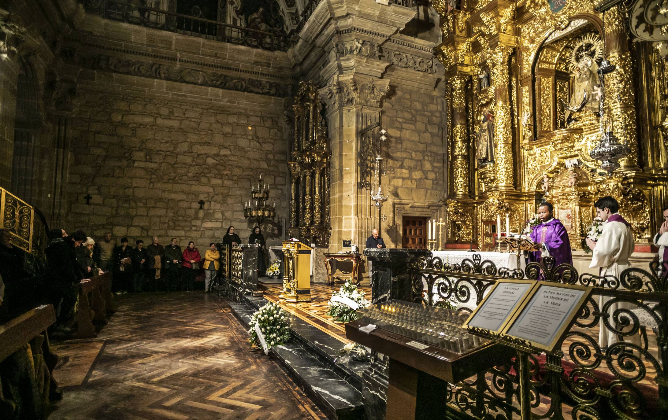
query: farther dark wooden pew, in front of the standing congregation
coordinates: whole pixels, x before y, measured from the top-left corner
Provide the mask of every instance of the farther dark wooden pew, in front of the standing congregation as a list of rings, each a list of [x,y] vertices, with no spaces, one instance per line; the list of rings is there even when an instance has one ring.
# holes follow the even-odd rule
[[[90,303],[89,303],[90,296]],[[93,316],[91,317],[91,310]],[[90,280],[79,283],[79,308],[77,309],[78,339],[90,339],[96,336],[96,323],[107,322],[108,315],[115,312],[112,301],[112,273],[106,272],[101,276],[94,276]]]

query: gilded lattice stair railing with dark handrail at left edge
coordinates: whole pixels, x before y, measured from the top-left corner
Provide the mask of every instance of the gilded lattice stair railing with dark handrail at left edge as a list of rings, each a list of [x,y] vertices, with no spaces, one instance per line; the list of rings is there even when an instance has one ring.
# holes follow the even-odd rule
[[[2,187],[0,214],[2,227],[11,234],[11,243],[27,252],[25,270],[39,274],[46,260],[47,223],[43,214]]]

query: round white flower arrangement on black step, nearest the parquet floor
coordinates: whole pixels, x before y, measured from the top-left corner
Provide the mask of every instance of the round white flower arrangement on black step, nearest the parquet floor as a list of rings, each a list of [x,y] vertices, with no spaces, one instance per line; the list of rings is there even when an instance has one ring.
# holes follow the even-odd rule
[[[264,348],[264,341],[267,345],[265,353],[274,346],[284,344],[290,338],[288,313],[275,303],[270,302],[259,308],[251,317],[248,326],[251,327],[248,330],[248,333],[251,334],[248,343],[261,345]],[[263,337],[259,337],[257,329],[260,330]]]

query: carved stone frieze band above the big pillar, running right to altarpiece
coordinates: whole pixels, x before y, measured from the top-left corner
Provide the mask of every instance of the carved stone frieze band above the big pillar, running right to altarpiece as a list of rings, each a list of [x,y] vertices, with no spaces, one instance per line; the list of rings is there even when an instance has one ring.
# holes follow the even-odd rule
[[[352,43],[339,42],[336,45],[335,51],[339,57],[345,55],[359,55],[361,57],[387,61],[387,63],[396,65],[397,67],[413,69],[423,73],[434,74],[438,71],[438,63],[433,58],[418,57],[408,53],[402,53],[401,51],[385,49],[371,41],[355,39]]]

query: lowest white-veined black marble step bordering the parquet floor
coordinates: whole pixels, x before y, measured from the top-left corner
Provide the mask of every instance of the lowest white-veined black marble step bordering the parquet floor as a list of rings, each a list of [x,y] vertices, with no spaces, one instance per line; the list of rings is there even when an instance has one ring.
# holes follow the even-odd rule
[[[257,303],[267,302],[262,300],[264,302]],[[230,308],[244,327],[251,322],[251,316],[256,310],[244,303],[231,303]],[[301,341],[293,339],[290,343],[273,347],[271,353],[331,419],[363,419],[364,401],[361,392],[322,363]]]

